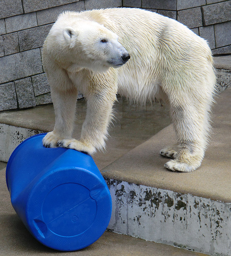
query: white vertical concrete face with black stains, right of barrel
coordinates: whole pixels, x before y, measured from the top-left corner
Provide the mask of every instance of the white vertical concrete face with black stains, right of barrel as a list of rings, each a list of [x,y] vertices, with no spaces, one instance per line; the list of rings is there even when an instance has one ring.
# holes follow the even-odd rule
[[[213,256],[231,255],[231,203],[106,182],[112,197],[109,231]]]

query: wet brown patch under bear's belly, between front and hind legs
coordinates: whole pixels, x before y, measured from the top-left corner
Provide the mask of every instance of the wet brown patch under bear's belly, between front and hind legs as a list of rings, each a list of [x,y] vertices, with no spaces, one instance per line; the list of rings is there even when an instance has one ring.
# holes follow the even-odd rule
[[[115,120],[109,128],[106,151],[93,156],[99,170],[171,124],[168,108],[163,103],[140,106],[118,98],[114,109]]]

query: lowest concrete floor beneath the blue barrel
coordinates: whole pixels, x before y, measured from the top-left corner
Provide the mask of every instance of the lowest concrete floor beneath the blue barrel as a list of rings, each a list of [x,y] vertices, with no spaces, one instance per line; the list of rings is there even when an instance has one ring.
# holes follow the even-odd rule
[[[204,254],[185,251],[169,245],[144,241],[141,239],[106,231],[99,240],[83,250],[58,252],[37,240],[22,224],[9,200],[5,184],[5,169],[0,170],[0,255],[9,256],[202,256]]]

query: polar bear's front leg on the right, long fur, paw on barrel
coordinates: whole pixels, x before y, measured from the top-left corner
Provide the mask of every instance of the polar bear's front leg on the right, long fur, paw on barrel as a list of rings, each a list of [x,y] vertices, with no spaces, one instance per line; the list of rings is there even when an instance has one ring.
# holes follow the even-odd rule
[[[92,75],[85,91],[87,115],[82,125],[80,140],[62,139],[57,146],[72,148],[90,155],[105,147],[111,120],[113,102],[116,100],[116,71]]]

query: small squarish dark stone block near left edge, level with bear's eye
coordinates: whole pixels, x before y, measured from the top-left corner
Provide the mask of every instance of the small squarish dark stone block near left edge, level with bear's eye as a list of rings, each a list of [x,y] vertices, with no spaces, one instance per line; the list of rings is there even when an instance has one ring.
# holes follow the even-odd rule
[[[5,55],[10,55],[19,52],[19,45],[18,45],[18,34],[10,33],[5,34],[2,36],[3,38],[3,45],[4,45],[4,53]]]

